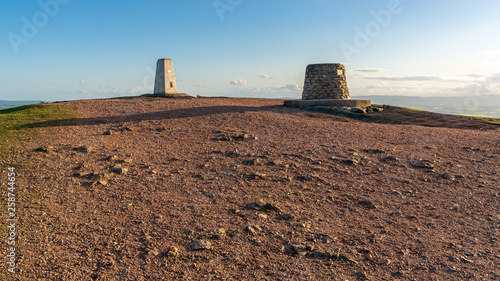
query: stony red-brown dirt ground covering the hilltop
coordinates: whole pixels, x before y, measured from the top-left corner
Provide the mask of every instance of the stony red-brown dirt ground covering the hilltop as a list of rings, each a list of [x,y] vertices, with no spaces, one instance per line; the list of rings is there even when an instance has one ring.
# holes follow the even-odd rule
[[[282,103],[62,103],[79,117],[40,124],[10,163],[31,206],[15,276],[500,280],[499,130]]]

